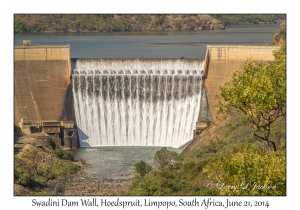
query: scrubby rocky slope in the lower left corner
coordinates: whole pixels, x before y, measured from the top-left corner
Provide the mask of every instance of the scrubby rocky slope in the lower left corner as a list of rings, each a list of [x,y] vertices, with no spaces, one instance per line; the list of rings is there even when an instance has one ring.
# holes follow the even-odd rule
[[[75,173],[79,166],[70,162],[73,155],[59,146],[50,148],[27,145],[14,157],[15,195],[52,195],[47,182]]]

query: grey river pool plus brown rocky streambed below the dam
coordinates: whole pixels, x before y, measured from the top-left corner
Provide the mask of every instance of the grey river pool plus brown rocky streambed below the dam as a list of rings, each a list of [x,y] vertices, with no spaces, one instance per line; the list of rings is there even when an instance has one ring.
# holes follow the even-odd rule
[[[47,185],[53,195],[115,196],[131,187],[135,176],[134,165],[143,160],[153,165],[153,157],[161,147],[106,146],[78,148],[74,155],[84,160],[85,167],[75,175],[50,181]],[[181,153],[181,149],[168,147]],[[59,191],[55,190],[59,186]]]

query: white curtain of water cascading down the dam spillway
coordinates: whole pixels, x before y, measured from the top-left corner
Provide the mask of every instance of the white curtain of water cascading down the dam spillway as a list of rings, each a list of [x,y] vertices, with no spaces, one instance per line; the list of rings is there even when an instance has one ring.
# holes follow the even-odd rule
[[[199,59],[78,59],[73,70],[81,147],[169,146],[193,138]]]

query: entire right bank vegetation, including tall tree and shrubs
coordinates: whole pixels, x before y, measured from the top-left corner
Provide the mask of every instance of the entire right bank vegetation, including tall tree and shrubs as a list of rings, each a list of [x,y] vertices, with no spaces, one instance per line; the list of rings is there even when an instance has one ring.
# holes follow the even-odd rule
[[[247,62],[222,88],[218,120],[208,129],[224,126],[213,140],[181,157],[160,149],[159,164],[125,195],[286,195],[285,47],[274,56]]]

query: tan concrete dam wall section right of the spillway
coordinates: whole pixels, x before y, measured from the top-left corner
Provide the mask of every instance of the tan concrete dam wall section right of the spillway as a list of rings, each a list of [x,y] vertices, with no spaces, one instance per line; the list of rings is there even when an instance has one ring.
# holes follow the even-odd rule
[[[249,60],[273,61],[278,46],[207,45],[204,62],[205,89],[210,109],[216,105],[221,86],[230,81],[233,72],[243,70]],[[213,117],[213,113],[212,117]]]

